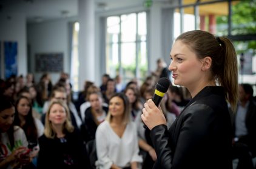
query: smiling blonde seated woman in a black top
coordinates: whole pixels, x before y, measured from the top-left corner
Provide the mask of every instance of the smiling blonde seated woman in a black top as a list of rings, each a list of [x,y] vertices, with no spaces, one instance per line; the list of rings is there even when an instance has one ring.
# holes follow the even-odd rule
[[[70,121],[65,101],[53,100],[39,138],[38,168],[86,168],[83,141]]]

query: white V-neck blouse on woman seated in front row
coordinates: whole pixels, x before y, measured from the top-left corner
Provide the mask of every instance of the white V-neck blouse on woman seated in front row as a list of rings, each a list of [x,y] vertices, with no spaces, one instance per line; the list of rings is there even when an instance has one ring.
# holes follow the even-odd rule
[[[129,167],[130,162],[142,162],[139,155],[135,123],[130,122],[122,138],[113,131],[108,121],[99,124],[96,130],[97,168],[109,169],[112,164]]]

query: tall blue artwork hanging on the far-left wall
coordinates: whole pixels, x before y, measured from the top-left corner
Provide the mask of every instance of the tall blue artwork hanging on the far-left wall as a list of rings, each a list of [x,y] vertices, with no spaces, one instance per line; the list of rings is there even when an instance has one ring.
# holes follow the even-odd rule
[[[4,42],[5,78],[18,74],[17,66],[18,43]]]

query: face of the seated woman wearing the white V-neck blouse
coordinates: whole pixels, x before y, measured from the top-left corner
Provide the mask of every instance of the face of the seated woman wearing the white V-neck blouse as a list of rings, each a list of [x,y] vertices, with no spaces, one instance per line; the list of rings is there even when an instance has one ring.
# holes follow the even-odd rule
[[[123,116],[124,101],[120,97],[113,97],[109,101],[109,112],[112,116]]]

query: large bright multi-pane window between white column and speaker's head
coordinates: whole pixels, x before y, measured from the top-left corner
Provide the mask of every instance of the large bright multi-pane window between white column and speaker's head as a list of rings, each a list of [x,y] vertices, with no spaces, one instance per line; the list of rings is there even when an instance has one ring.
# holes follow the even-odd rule
[[[142,79],[147,72],[146,12],[107,18],[106,68],[111,77],[123,82]]]

